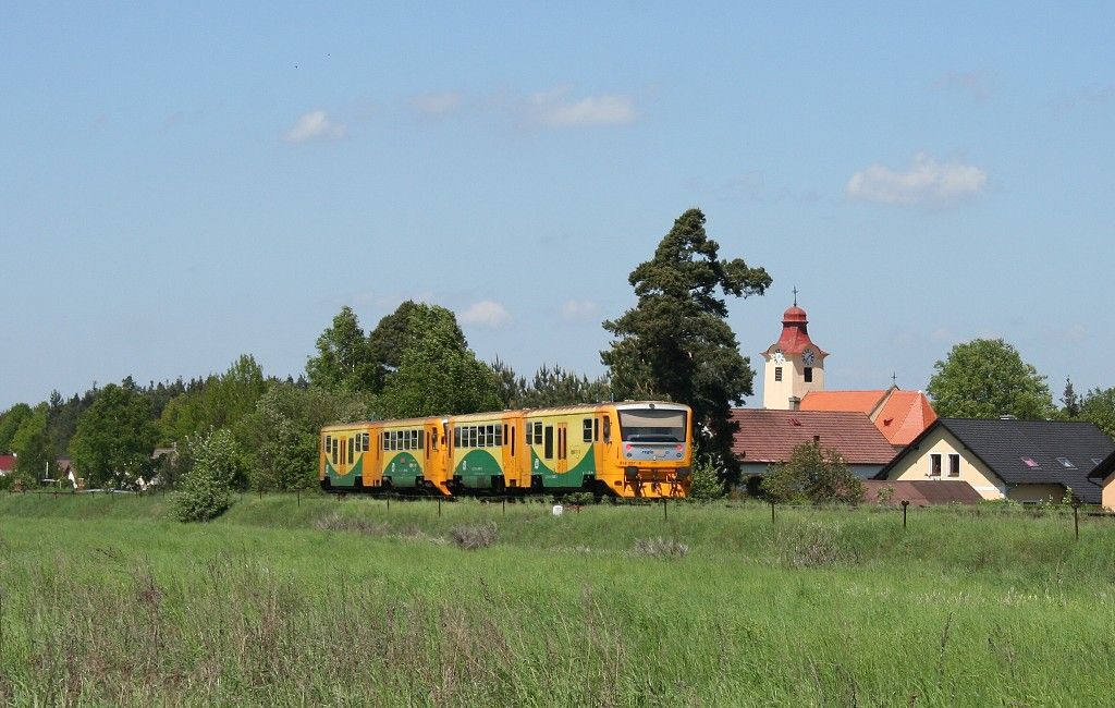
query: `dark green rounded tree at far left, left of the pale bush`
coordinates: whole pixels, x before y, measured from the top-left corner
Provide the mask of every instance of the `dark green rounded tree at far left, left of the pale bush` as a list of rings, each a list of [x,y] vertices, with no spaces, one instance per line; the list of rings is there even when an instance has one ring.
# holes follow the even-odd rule
[[[136,391],[109,384],[78,420],[70,457],[89,486],[132,486],[151,474],[157,437],[151,403]]]

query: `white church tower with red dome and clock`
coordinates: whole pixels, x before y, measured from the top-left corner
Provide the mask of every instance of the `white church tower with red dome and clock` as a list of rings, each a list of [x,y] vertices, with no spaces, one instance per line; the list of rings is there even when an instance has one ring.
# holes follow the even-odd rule
[[[825,390],[825,357],[828,352],[813,343],[805,310],[794,305],[782,316],[782,337],[763,352],[763,407],[796,410],[809,391]]]

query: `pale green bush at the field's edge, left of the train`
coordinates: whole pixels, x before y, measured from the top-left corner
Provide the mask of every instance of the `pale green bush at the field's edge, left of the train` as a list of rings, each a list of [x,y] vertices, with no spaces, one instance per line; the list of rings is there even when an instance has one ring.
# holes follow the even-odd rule
[[[243,476],[243,454],[225,428],[186,438],[183,449],[192,462],[173,496],[175,516],[182,522],[209,521],[232,504],[232,485]]]

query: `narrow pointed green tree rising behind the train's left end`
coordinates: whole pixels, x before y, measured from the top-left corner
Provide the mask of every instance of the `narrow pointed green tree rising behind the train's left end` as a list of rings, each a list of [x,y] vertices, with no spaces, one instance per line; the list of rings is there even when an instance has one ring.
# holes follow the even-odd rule
[[[341,308],[318,337],[317,348],[318,355],[306,363],[311,385],[327,390],[375,390],[376,363],[352,308]]]

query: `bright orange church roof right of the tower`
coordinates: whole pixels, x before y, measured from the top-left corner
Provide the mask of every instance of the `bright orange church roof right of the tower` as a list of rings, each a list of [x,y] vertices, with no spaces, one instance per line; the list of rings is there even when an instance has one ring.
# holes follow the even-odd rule
[[[809,391],[802,398],[802,410],[857,410],[875,424],[895,450],[912,443],[937,420],[923,392],[904,391],[898,386],[885,390]]]

